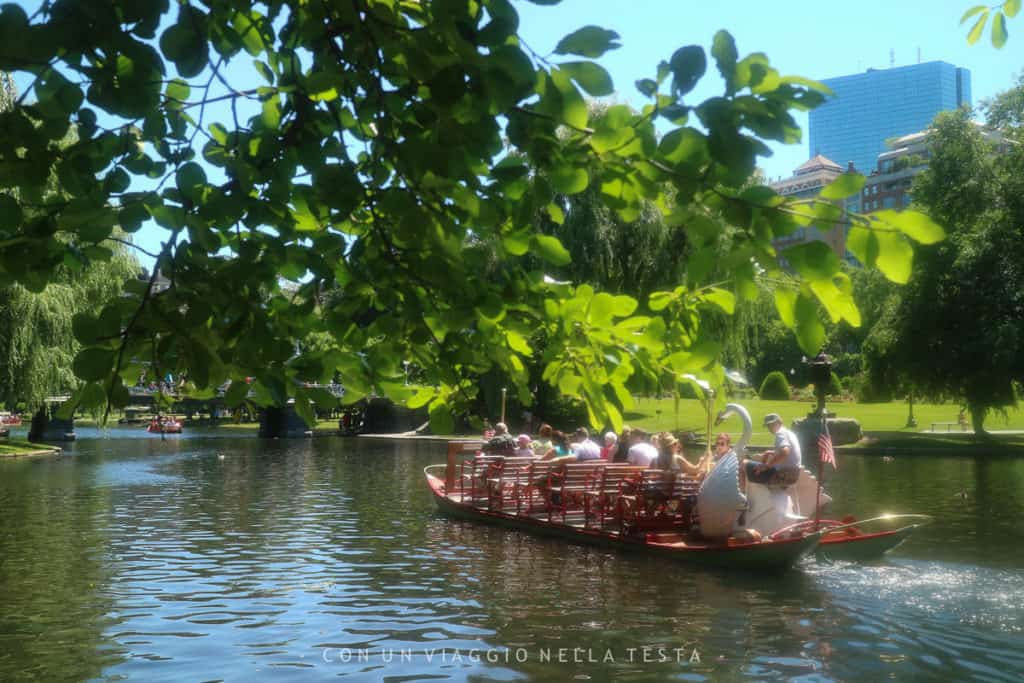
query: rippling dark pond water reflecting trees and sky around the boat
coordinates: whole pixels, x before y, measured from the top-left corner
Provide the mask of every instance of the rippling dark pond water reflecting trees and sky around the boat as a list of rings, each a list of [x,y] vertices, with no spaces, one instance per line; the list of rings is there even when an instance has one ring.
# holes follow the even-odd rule
[[[443,446],[82,429],[0,462],[0,680],[1024,677],[1024,461],[840,456],[885,560],[688,568],[450,520]]]

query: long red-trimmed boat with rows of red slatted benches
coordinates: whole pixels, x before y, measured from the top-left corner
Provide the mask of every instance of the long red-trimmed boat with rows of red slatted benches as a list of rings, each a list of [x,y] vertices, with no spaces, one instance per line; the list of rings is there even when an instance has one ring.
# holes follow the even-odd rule
[[[710,567],[781,570],[813,552],[822,532],[780,531],[771,539],[742,532],[710,535],[693,523],[696,508],[713,514],[696,479],[629,465],[552,465],[477,453],[478,441],[449,443],[447,461],[424,469],[438,510],[449,516],[554,536],[570,542],[681,560]],[[467,457],[468,456],[468,457]],[[723,459],[724,460],[724,459]],[[727,479],[735,459],[706,479]],[[678,478],[677,478],[678,476]],[[735,502],[733,516],[738,514]]]

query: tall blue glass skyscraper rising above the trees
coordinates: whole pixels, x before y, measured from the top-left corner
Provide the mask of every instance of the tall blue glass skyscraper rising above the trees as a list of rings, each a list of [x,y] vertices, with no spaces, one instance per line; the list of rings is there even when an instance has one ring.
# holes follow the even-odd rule
[[[945,61],[821,81],[835,95],[810,114],[810,156],[870,173],[886,140],[928,128],[939,112],[971,105],[971,72]]]

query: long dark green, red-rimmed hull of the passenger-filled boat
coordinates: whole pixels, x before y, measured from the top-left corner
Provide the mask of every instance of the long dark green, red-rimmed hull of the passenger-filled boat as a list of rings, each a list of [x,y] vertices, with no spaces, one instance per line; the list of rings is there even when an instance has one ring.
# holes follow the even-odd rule
[[[596,528],[581,528],[558,522],[549,522],[545,519],[520,517],[481,509],[449,498],[444,495],[444,482],[441,479],[429,473],[426,477],[438,510],[445,515],[530,533],[561,538],[573,543],[600,546],[624,552],[657,555],[699,566],[737,570],[782,570],[793,566],[800,558],[811,553],[820,538],[818,533],[808,533],[780,541],[724,545],[693,544],[681,539],[664,538],[671,535],[650,535],[658,537],[654,541],[648,537],[623,537]]]

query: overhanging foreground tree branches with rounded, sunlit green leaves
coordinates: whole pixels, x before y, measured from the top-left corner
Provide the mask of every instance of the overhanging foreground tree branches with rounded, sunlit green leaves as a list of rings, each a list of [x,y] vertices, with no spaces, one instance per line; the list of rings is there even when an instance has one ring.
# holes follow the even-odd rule
[[[840,218],[830,201],[746,186],[764,140],[797,142],[791,112],[827,90],[740,55],[722,31],[711,44],[721,94],[691,94],[702,47],[667,46],[636,84],[646,105],[592,121],[585,96],[614,91],[596,59],[618,35],[585,26],[542,54],[518,28],[509,0],[185,0],[173,12],[167,0],[55,0],[32,17],[3,5],[0,70],[26,73],[35,100],[0,116],[0,189],[20,190],[0,200],[0,279],[52,280],[60,234],[105,249],[115,224],[162,231],[154,256],[170,287],[139,283],[77,326],[78,399],[124,402],[132,359],[148,358],[199,390],[255,377],[257,400],[294,395],[308,414],[329,398],[301,380],[337,373],[347,399],[428,405],[446,431],[493,368],[529,401],[526,339],[542,328],[545,381],[582,396],[595,424],[621,423],[636,373],[720,380],[699,308],[755,297],[759,269],[777,268],[774,238]],[[72,123],[80,139],[58,147]],[[40,201],[51,172],[67,202]],[[862,182],[842,176],[823,199]],[[714,254],[724,284],[681,281],[637,300],[545,280],[524,255],[570,256],[535,216],[588,187],[625,221],[652,203],[685,231],[688,267]],[[39,214],[26,223],[29,204]],[[897,280],[908,237],[942,237],[920,214],[853,220],[851,250]],[[722,224],[741,233],[724,255]],[[819,306],[859,318],[821,247],[786,250],[801,280],[776,297],[808,352],[823,337]],[[332,289],[342,296],[322,315]],[[316,329],[334,347],[296,354],[292,340]],[[428,385],[413,396],[402,361]],[[228,400],[245,399],[245,383],[232,386]]]

